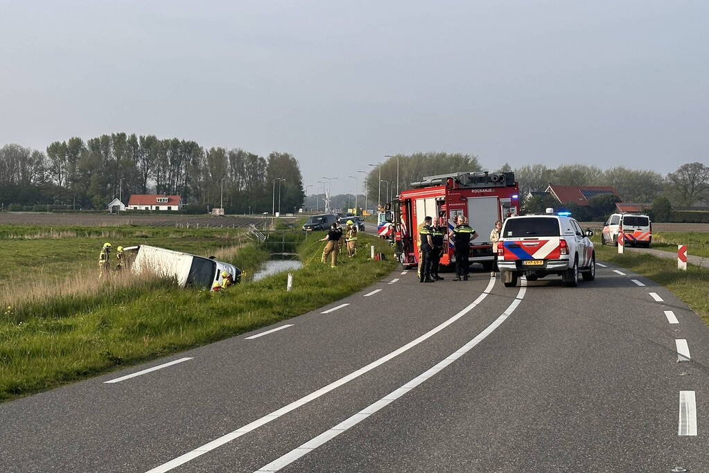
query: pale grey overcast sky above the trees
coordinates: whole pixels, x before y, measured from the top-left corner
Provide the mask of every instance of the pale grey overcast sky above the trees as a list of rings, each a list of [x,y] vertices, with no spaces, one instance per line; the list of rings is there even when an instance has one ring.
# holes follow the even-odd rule
[[[708,18],[704,0],[0,0],[0,145],[291,152],[333,193],[397,152],[666,173],[709,163]]]

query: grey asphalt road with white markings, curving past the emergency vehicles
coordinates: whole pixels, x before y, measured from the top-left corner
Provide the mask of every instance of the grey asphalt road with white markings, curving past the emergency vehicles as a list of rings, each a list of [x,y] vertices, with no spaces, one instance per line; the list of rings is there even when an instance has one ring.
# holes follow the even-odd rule
[[[708,359],[696,314],[623,268],[576,288],[399,270],[275,326],[0,404],[0,471],[707,472]]]

